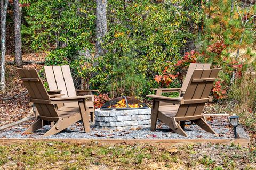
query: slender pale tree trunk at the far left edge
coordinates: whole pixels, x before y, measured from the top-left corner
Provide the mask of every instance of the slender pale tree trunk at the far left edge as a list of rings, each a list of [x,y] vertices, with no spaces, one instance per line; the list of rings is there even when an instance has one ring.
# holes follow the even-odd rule
[[[5,36],[6,36],[6,15],[7,15],[8,0],[4,1],[4,11],[1,21],[1,79],[0,79],[0,91],[5,90]]]

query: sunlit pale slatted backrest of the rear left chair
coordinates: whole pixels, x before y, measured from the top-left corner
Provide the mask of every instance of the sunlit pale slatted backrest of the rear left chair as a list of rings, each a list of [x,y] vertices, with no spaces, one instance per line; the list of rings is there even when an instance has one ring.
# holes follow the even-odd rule
[[[63,97],[75,97],[76,89],[68,65],[44,66],[50,90],[61,90]]]

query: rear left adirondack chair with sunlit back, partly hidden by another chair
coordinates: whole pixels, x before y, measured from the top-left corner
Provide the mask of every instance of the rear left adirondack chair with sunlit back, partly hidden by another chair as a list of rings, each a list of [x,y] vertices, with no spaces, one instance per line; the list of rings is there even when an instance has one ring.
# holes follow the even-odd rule
[[[86,101],[86,106],[89,108],[91,115],[91,122],[94,122],[94,95],[93,92],[99,90],[76,90],[72,75],[70,72],[70,67],[68,65],[62,66],[44,66],[46,79],[51,91],[60,90],[63,95],[62,97],[76,97],[78,95],[91,95],[89,100]],[[65,106],[78,108],[78,103],[65,103]],[[61,106],[58,106],[61,107]]]

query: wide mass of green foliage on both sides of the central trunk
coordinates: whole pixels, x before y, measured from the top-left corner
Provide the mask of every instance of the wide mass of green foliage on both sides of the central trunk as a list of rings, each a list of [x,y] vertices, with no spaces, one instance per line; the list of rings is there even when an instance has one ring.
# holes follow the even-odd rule
[[[203,11],[198,2],[108,1],[107,53],[94,60],[94,1],[31,1],[23,25],[33,50],[49,50],[47,65],[68,64],[77,84],[110,96],[144,96],[155,75],[174,65],[196,38]],[[192,7],[191,7],[192,5]],[[88,56],[81,53],[89,53]],[[176,82],[175,82],[176,83]],[[174,86],[172,83],[170,86]]]

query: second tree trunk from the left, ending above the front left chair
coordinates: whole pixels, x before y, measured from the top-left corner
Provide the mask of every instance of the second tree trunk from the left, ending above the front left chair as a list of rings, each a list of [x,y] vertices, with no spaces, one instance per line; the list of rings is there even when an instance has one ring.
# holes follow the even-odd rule
[[[13,0],[14,11],[14,37],[15,37],[15,63],[17,67],[22,67],[22,52],[21,52],[21,16],[19,0]]]

